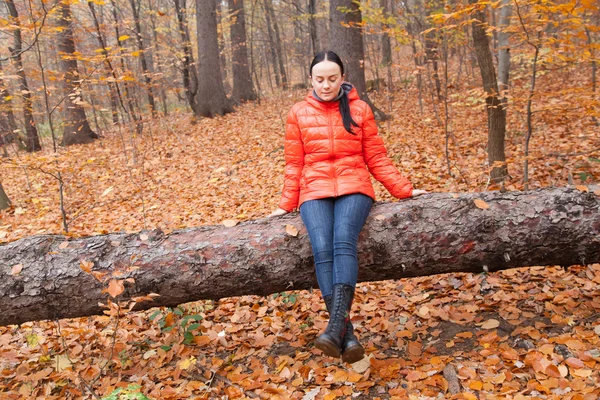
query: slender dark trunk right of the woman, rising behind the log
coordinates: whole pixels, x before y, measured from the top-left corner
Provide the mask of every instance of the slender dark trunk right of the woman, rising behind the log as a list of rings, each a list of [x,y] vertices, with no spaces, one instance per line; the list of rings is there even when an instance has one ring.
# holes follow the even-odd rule
[[[477,0],[470,0],[476,4]],[[490,50],[489,39],[485,32],[485,14],[482,10],[473,13],[472,24],[473,46],[481,71],[483,90],[488,114],[488,162],[490,165],[490,180],[500,183],[508,175],[506,157],[504,155],[504,136],[506,133],[506,112],[498,95],[498,83],[494,60]]]

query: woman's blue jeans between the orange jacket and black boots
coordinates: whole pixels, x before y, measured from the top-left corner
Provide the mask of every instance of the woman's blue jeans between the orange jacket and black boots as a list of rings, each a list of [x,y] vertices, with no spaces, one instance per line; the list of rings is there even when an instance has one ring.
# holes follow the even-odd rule
[[[323,296],[331,295],[333,285],[338,283],[356,286],[358,234],[372,205],[369,196],[355,193],[308,200],[300,206]]]

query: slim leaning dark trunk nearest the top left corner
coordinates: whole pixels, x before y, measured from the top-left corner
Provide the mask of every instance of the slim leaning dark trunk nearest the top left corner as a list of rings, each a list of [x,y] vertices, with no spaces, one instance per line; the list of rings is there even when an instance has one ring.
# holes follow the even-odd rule
[[[35,121],[33,120],[33,101],[31,100],[31,91],[29,90],[27,76],[25,74],[25,69],[23,68],[23,58],[21,57],[21,52],[23,51],[23,41],[21,40],[19,13],[13,0],[4,1],[6,3],[6,7],[8,8],[8,12],[10,13],[9,20],[11,21],[12,25],[16,26],[16,29],[14,29],[13,32],[14,47],[10,48],[9,50],[11,53],[11,58],[15,63],[17,75],[19,76],[19,90],[21,91],[21,96],[23,96],[23,118],[25,120],[26,137],[25,149],[28,152],[39,151],[42,149],[42,145],[40,144],[40,137],[38,135]]]

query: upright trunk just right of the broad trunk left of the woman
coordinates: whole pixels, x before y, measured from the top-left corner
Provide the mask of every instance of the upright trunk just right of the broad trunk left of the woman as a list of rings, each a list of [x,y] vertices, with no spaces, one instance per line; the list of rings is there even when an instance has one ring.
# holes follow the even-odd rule
[[[248,65],[246,47],[246,16],[244,0],[229,0],[229,12],[233,16],[231,22],[231,52],[233,63],[233,92],[231,97],[236,102],[256,100],[252,84],[252,76]]]

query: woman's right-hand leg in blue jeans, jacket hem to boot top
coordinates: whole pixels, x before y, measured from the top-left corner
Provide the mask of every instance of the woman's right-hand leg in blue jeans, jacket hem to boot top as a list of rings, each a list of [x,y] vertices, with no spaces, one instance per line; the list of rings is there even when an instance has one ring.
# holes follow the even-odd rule
[[[358,277],[358,235],[362,230],[373,199],[364,194],[350,194],[336,199],[333,228],[333,285],[356,286]]]

